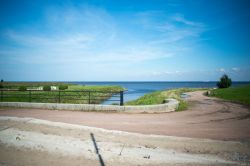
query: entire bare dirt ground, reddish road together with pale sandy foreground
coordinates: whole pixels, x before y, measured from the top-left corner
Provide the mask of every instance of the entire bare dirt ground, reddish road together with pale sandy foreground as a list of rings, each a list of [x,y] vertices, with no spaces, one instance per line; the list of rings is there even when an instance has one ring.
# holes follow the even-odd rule
[[[0,166],[248,165],[249,108],[202,93],[164,114],[1,108]]]

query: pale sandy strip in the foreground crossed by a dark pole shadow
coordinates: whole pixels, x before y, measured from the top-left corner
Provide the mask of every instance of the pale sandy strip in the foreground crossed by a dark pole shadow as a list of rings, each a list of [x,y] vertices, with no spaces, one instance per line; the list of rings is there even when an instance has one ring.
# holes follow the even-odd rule
[[[249,145],[0,117],[0,165],[247,165]]]

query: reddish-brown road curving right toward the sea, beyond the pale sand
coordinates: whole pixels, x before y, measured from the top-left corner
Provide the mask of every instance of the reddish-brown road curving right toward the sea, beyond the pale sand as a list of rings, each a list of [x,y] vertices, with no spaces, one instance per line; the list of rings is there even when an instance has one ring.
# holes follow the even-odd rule
[[[188,93],[190,108],[183,112],[126,114],[1,108],[0,116],[33,117],[111,130],[218,140],[249,140],[250,108]]]

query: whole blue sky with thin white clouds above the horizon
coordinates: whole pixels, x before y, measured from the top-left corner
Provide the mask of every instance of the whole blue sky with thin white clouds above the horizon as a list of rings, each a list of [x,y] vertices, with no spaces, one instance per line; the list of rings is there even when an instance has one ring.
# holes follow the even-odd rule
[[[250,81],[249,0],[0,0],[6,81]]]

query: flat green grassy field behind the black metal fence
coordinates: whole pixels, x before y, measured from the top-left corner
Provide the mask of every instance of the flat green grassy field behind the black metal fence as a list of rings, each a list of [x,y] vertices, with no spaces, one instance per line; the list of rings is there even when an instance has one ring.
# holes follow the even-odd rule
[[[72,104],[86,104],[86,103],[101,103],[110,98],[113,94],[123,90],[120,86],[82,86],[64,83],[14,83],[8,84],[9,89],[18,89],[19,86],[26,86],[30,89],[35,89],[39,86],[56,86],[67,85],[68,89],[51,91],[3,91],[2,101],[10,102],[40,102],[40,103],[72,103]],[[10,86],[12,85],[12,86]],[[14,85],[14,86],[13,86]],[[5,88],[6,89],[6,88]],[[57,88],[58,89],[58,88]],[[91,92],[88,92],[91,91]]]

